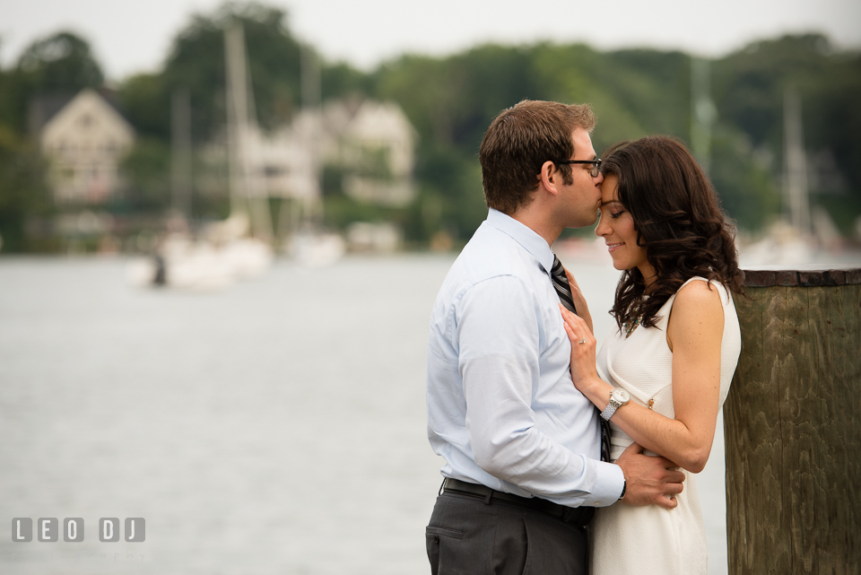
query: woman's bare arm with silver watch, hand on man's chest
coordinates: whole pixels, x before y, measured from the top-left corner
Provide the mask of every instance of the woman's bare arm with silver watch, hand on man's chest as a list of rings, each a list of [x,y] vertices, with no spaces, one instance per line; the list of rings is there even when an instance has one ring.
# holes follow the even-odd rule
[[[565,310],[567,311],[567,310]],[[595,370],[595,338],[584,335],[585,322],[563,313],[571,339],[571,378],[598,409],[610,402],[613,386]],[[613,414],[613,423],[646,449],[699,473],[706,465],[718,423],[720,342],[724,312],[717,289],[691,282],[676,295],[666,339],[673,352],[675,419],[629,402]],[[578,341],[586,339],[586,344]],[[591,369],[589,367],[591,362]]]

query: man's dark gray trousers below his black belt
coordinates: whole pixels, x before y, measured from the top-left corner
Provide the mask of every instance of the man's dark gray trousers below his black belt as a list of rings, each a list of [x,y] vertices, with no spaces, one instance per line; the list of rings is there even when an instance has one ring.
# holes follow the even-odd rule
[[[443,492],[425,529],[432,575],[587,575],[586,529],[506,501]]]

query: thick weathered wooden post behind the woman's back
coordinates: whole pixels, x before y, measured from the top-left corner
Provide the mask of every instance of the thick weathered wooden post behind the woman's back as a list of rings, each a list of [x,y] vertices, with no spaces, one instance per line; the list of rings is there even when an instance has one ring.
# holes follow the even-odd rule
[[[745,285],[724,405],[729,573],[861,573],[861,269]]]

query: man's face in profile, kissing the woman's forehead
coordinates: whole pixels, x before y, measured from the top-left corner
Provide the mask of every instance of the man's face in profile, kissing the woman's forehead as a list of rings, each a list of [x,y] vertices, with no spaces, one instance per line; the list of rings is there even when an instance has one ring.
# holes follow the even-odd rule
[[[592,138],[581,127],[574,128],[571,133],[574,144],[574,157],[570,160],[596,160],[592,148]],[[592,164],[570,164],[559,166],[560,170],[571,170],[574,181],[570,185],[561,184],[561,209],[564,225],[567,228],[583,228],[595,223],[598,208],[601,206],[601,187],[603,176],[597,178],[591,175]]]

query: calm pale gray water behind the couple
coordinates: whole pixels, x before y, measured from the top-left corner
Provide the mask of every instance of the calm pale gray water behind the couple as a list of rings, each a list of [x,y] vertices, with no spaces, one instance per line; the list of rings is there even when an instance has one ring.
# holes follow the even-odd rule
[[[453,256],[278,263],[230,291],[139,291],[118,259],[0,259],[0,572],[412,575],[440,460],[425,436],[431,304]],[[573,265],[595,318],[618,274]],[[699,488],[726,573],[723,427]],[[144,518],[101,543],[99,518]]]

